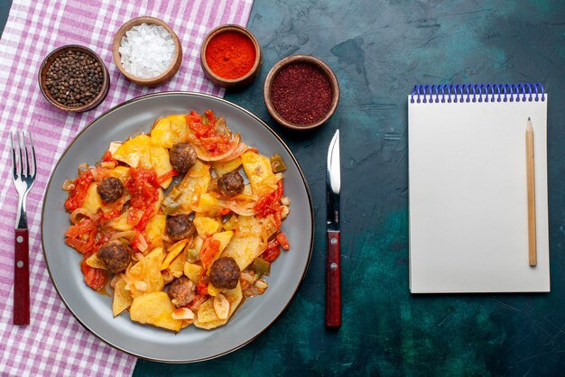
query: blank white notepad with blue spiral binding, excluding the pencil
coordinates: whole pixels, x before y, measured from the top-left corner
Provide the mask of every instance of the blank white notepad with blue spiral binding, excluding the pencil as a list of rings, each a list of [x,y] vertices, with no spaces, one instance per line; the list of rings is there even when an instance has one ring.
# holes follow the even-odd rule
[[[541,84],[417,86],[408,97],[412,293],[550,290]],[[533,124],[537,265],[528,262]]]

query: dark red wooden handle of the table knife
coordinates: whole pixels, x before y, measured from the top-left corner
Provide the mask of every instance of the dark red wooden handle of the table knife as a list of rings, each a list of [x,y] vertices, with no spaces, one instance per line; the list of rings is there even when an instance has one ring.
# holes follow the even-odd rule
[[[326,263],[326,326],[341,326],[341,266],[339,262],[339,232],[328,231]]]

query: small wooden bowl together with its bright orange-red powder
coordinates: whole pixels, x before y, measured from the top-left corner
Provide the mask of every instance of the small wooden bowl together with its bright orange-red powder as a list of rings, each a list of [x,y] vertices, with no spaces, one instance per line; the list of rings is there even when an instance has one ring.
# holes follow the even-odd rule
[[[204,73],[220,87],[241,88],[253,82],[261,69],[261,47],[255,36],[235,24],[208,33],[200,49]]]

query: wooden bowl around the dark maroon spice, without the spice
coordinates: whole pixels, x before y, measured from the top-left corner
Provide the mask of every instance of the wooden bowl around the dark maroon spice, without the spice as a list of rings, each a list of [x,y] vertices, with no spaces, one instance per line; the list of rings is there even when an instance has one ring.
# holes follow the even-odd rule
[[[282,115],[280,115],[276,111],[273,105],[273,95],[271,91],[273,88],[274,78],[276,78],[276,76],[279,74],[281,69],[287,67],[288,65],[296,64],[296,63],[310,64],[315,68],[320,69],[320,71],[324,73],[326,77],[329,79],[329,85],[332,90],[331,105],[329,106],[328,113],[323,118],[321,118],[318,122],[313,124],[293,124],[292,122],[284,119]],[[319,127],[321,124],[325,124],[326,122],[328,122],[331,115],[333,115],[336,112],[336,108],[338,107],[338,102],[339,102],[338,78],[336,78],[336,75],[329,68],[329,66],[318,58],[314,58],[313,56],[310,55],[289,56],[288,58],[282,59],[279,62],[277,62],[267,74],[267,78],[264,81],[263,98],[264,98],[264,104],[265,106],[267,106],[267,110],[269,111],[269,114],[273,116],[274,120],[277,121],[277,123],[282,124],[285,127],[292,128],[293,130],[310,130],[312,128]]]

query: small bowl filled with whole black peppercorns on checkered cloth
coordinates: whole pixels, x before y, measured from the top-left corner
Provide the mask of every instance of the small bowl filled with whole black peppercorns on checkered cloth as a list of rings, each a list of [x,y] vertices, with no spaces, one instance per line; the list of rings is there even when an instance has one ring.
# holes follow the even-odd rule
[[[104,100],[110,80],[106,65],[96,52],[69,44],[45,57],[39,71],[39,86],[51,105],[79,113]]]

